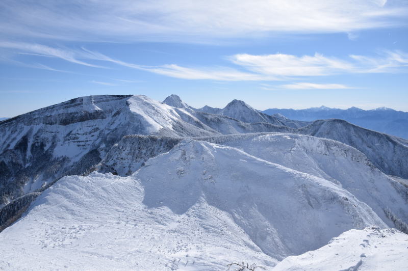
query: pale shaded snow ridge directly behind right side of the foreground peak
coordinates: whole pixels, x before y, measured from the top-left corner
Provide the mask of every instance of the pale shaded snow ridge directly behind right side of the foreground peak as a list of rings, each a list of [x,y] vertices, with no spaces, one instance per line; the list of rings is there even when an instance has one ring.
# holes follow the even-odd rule
[[[368,204],[390,227],[408,232],[408,188],[348,145],[298,134],[247,134],[208,140],[332,181]]]

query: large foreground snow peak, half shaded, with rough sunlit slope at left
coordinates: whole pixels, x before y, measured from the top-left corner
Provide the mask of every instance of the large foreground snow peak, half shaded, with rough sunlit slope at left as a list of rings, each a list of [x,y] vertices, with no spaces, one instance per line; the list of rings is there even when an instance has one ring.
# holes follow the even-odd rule
[[[237,148],[183,140],[131,176],[67,176],[46,189],[0,234],[7,243],[0,267],[272,267],[369,225],[386,227],[333,182]]]

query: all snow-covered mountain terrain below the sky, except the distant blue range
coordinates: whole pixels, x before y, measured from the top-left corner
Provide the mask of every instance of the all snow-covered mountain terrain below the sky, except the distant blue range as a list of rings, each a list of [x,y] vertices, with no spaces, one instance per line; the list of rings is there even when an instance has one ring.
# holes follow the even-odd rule
[[[408,140],[267,113],[101,95],[1,121],[0,269],[405,269]]]

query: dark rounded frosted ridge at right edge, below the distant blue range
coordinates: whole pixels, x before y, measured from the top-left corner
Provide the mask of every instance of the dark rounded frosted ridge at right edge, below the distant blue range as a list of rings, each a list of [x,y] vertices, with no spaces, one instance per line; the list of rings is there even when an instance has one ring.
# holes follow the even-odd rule
[[[408,179],[408,142],[343,120],[319,120],[299,133],[340,141],[363,152],[382,172]]]

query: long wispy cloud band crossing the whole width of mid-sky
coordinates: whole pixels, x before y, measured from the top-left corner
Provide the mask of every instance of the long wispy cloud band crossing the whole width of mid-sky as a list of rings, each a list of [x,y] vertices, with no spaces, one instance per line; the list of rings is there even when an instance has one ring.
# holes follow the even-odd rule
[[[139,65],[113,59],[103,53],[91,51],[84,47],[79,49],[54,48],[41,44],[2,41],[0,41],[0,47],[11,48],[17,53],[20,51],[33,52],[39,56],[59,58],[93,68],[108,67],[91,64],[91,61],[105,62],[181,79],[273,81],[347,73],[398,73],[408,71],[406,68],[408,67],[408,54],[398,50],[380,51],[374,56],[350,55],[343,59],[324,56],[320,53],[315,53],[312,56],[295,56],[283,53],[272,55],[238,54],[226,57],[226,60],[230,63],[225,66],[185,67],[177,64]],[[27,65],[33,68],[56,70],[38,63]],[[300,85],[296,86],[300,88]],[[292,86],[292,88],[296,86]],[[309,87],[312,86],[309,85]]]

